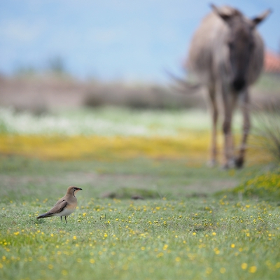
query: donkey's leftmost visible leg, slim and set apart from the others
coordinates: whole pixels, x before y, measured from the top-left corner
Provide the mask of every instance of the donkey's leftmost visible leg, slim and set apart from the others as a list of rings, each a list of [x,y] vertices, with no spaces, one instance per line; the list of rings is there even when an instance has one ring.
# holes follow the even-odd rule
[[[216,92],[214,86],[209,87],[209,99],[210,99],[211,120],[212,120],[209,166],[214,167],[217,161],[217,122],[218,122],[218,106],[217,106]]]

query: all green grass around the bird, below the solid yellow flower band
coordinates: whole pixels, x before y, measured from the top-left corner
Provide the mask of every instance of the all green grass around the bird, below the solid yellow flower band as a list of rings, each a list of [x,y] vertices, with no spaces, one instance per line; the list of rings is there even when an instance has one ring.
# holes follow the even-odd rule
[[[1,279],[279,275],[277,202],[211,195],[265,172],[262,165],[223,172],[145,158],[61,162],[1,156],[0,162]],[[37,221],[71,183],[83,191],[68,224],[58,217]],[[102,198],[124,188],[128,195],[121,200]],[[129,198],[137,189],[145,200]]]

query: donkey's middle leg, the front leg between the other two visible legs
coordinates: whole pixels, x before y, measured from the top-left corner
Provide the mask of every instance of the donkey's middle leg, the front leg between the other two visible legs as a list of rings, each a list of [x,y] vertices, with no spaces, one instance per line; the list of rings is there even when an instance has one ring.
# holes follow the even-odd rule
[[[234,162],[234,141],[232,137],[232,115],[237,103],[237,94],[223,90],[223,134],[224,134],[224,154],[223,167],[235,166]]]

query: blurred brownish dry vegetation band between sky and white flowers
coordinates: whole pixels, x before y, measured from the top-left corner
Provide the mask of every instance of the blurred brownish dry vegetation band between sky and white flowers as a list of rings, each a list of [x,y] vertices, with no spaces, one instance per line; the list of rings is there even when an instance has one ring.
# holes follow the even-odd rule
[[[252,89],[252,103],[266,109],[271,99],[280,103],[279,76],[266,74]],[[104,105],[134,109],[205,109],[207,102],[203,91],[182,94],[169,85],[80,81],[58,74],[0,76],[0,106],[38,114],[57,108]]]

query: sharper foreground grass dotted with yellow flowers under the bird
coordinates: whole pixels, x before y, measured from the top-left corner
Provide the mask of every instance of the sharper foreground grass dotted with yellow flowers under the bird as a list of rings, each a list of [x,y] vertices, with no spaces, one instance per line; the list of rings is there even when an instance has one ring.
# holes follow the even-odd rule
[[[80,199],[69,224],[48,203],[1,214],[2,279],[276,279],[279,210],[255,202]],[[3,205],[2,205],[3,206]]]

